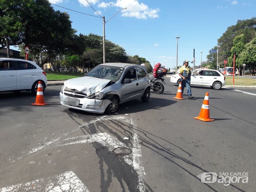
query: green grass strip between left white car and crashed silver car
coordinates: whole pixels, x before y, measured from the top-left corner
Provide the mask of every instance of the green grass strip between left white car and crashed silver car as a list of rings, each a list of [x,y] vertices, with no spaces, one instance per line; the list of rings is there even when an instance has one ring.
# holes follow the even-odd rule
[[[70,72],[55,72],[55,71],[45,71],[47,80],[66,80],[73,79],[76,77],[82,77],[84,73],[70,73]]]

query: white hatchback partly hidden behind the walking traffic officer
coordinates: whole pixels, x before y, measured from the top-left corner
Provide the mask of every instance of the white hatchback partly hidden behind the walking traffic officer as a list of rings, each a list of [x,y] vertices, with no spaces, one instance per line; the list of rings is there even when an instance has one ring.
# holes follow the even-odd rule
[[[182,79],[179,74],[171,76],[171,82],[179,85],[181,81]],[[191,85],[205,85],[215,90],[220,90],[225,83],[225,76],[217,70],[196,69],[191,73]]]

